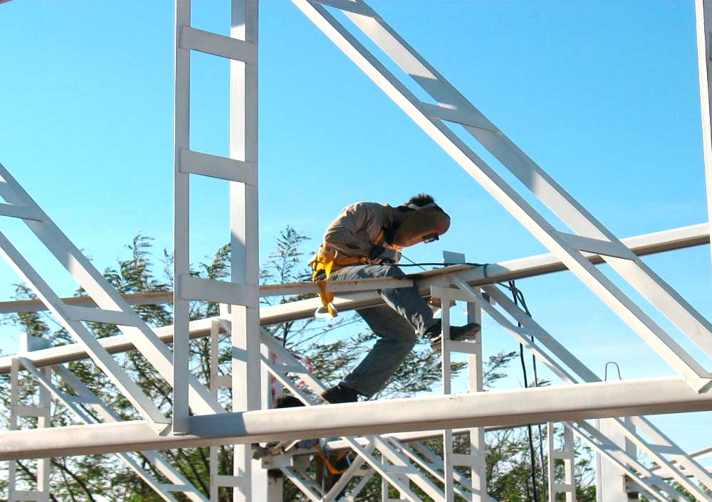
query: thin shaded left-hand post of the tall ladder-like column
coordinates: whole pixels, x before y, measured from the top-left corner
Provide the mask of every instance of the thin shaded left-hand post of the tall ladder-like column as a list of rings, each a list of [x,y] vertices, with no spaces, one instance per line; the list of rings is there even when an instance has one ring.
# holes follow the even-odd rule
[[[190,149],[190,50],[182,48],[181,33],[190,26],[191,0],[176,1],[173,123],[173,433],[190,430],[188,375],[190,305],[181,295],[190,274],[190,173],[181,171],[181,151]]]

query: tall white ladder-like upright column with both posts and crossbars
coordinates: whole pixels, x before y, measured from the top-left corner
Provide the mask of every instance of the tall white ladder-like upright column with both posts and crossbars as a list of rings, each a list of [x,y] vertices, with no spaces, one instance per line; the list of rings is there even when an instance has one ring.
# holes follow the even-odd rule
[[[191,0],[176,0],[174,89],[174,407],[173,433],[188,434],[190,301],[233,306],[233,411],[258,410],[258,0],[231,0],[230,36],[191,26]],[[191,51],[229,59],[229,157],[205,154],[190,145]],[[190,176],[230,183],[231,281],[190,274]],[[245,445],[234,447],[234,476],[225,482],[234,500],[251,500],[251,457]]]

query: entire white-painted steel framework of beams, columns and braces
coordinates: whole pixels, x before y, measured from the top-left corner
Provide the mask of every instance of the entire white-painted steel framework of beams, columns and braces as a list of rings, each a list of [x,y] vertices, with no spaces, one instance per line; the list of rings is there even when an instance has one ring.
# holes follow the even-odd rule
[[[0,433],[0,459],[47,458],[68,454],[114,452],[130,466],[131,457],[123,452],[141,451],[172,484],[161,484],[144,477],[162,497],[171,501],[171,491],[186,493],[194,500],[204,500],[194,487],[176,476],[159,454],[147,449],[166,449],[196,445],[236,444],[234,473],[220,476],[211,471],[211,500],[216,498],[218,486],[234,488],[234,500],[278,500],[281,491],[270,487],[266,479],[256,475],[245,445],[271,439],[289,440],[303,437],[341,436],[345,446],[357,454],[350,475],[362,480],[355,488],[365,485],[378,474],[384,480],[384,500],[387,486],[394,486],[400,497],[412,502],[422,500],[412,484],[422,489],[433,500],[453,501],[459,495],[467,500],[486,500],[486,480],[483,479],[483,458],[479,453],[483,444],[483,427],[515,426],[526,423],[549,422],[550,431],[550,500],[555,493],[567,493],[573,500],[572,434],[578,434],[592,444],[602,459],[627,476],[629,483],[656,500],[679,500],[682,496],[659,474],[643,466],[632,454],[632,445],[654,460],[666,476],[671,476],[700,500],[712,500],[705,488],[712,488],[712,478],[695,459],[670,441],[644,417],[644,413],[685,412],[712,410],[712,373],[679,343],[674,341],[648,314],[627,297],[595,265],[606,262],[634,289],[642,294],[682,333],[712,356],[712,325],[687,303],[677,292],[658,277],[639,259],[638,252],[696,245],[709,241],[707,225],[676,229],[666,235],[634,237],[619,240],[595,220],[572,196],[566,193],[534,161],[520,151],[500,129],[479,112],[445,78],[407,44],[385,21],[362,0],[293,0],[293,3],[313,21],[336,45],[394,100],[414,121],[429,134],[452,158],[496,198],[512,215],[548,247],[551,255],[515,260],[517,266],[501,264],[490,267],[489,273],[468,267],[450,267],[438,272],[419,274],[407,279],[362,281],[333,286],[342,292],[337,299],[340,310],[376,304],[375,290],[416,284],[424,292],[440,297],[443,304],[449,299],[466,301],[468,316],[477,319],[479,309],[497,321],[509,333],[540,358],[562,380],[576,385],[480,392],[481,340],[449,343],[449,309],[443,310],[443,383],[444,396],[420,397],[397,402],[366,402],[355,405],[324,405],[298,410],[260,410],[266,407],[262,385],[270,373],[305,403],[313,402],[286,376],[300,375],[315,392],[323,390],[318,380],[311,377],[298,361],[273,343],[268,333],[259,333],[260,324],[272,324],[288,319],[299,319],[313,311],[315,301],[306,300],[264,309],[258,312],[258,295],[313,292],[310,284],[278,285],[258,290],[257,285],[257,1],[232,0],[231,36],[219,36],[190,25],[190,0],[176,3],[176,79],[175,79],[175,228],[176,265],[173,294],[175,319],[173,326],[152,330],[140,321],[126,299],[120,297],[110,284],[93,268],[88,260],[50,220],[48,215],[23,191],[14,178],[0,166],[0,204],[4,216],[21,218],[40,238],[48,250],[73,274],[90,298],[84,303],[60,299],[43,278],[0,234],[0,250],[6,261],[31,285],[46,309],[58,318],[77,339],[74,346],[42,348],[10,356],[0,362],[0,373],[11,373],[14,396],[18,388],[19,371],[24,368],[42,385],[41,407],[31,410],[14,398],[11,403],[13,419],[22,412],[45,417],[48,414],[48,395],[62,402],[85,425],[63,427],[48,432],[43,429],[11,430]],[[703,139],[708,186],[712,184],[712,146],[710,139],[709,53],[711,38],[706,23],[710,16],[706,1],[697,0],[698,57],[702,95]],[[392,58],[414,82],[421,86],[434,102],[422,102],[340,21],[348,19],[350,28],[357,28]],[[221,158],[189,149],[189,68],[190,51],[199,50],[230,59],[231,68],[231,134],[230,158]],[[503,168],[516,176],[534,196],[540,199],[567,229],[558,230],[543,215],[529,205],[495,169],[486,164],[466,146],[448,123],[460,124],[479,141]],[[222,178],[231,184],[231,282],[214,282],[189,277],[189,175]],[[708,189],[708,193],[709,193]],[[708,201],[712,198],[708,197]],[[709,202],[712,208],[712,202]],[[712,209],[711,209],[712,215]],[[637,240],[636,240],[637,239]],[[637,249],[639,247],[639,249]],[[526,263],[525,263],[526,262]],[[493,284],[505,277],[520,277],[568,269],[597,294],[612,311],[654,348],[680,377],[627,380],[602,383],[597,376],[560,345],[550,333],[533,319],[525,316]],[[488,294],[486,300],[478,287]],[[158,296],[158,295],[157,295]],[[166,301],[165,297],[159,297]],[[226,304],[217,319],[205,319],[189,324],[189,301],[203,299]],[[136,299],[136,301],[155,301]],[[7,308],[7,306],[6,306]],[[11,307],[9,307],[11,308]],[[22,309],[36,309],[25,304]],[[263,315],[264,314],[264,315]],[[517,324],[513,324],[513,321]],[[115,339],[98,341],[85,323],[103,322],[119,326],[124,333]],[[234,392],[233,411],[226,413],[216,400],[216,386],[226,375],[213,374],[211,391],[197,381],[188,370],[188,343],[192,336],[216,338],[219,330],[231,336],[232,374],[230,385]],[[532,338],[528,338],[531,336]],[[173,343],[171,354],[166,342]],[[260,356],[260,343],[266,348]],[[154,403],[142,394],[122,368],[111,358],[111,353],[139,350],[157,372],[174,388],[172,418],[167,419]],[[449,354],[451,351],[468,353],[471,393],[449,395]],[[276,363],[273,361],[276,356]],[[115,423],[116,416],[105,405],[90,395],[66,367],[61,365],[77,358],[92,358],[112,382],[127,397],[144,420]],[[42,368],[42,369],[40,369]],[[263,375],[261,375],[261,368]],[[49,372],[54,370],[65,380],[75,395],[63,394],[53,385]],[[261,378],[262,377],[262,378]],[[43,404],[42,404],[43,403]],[[394,410],[398,408],[398,412]],[[93,408],[98,415],[88,412]],[[192,412],[192,415],[191,415]],[[103,423],[97,423],[97,417]],[[631,417],[622,420],[616,417]],[[591,418],[607,418],[599,428],[587,422]],[[613,418],[608,418],[613,417]],[[112,423],[113,422],[113,423]],[[553,442],[553,422],[565,422],[564,449],[559,452]],[[167,427],[172,424],[172,430]],[[444,428],[444,458],[427,450],[422,443],[397,435],[378,436],[384,432],[429,431],[433,425]],[[454,454],[451,449],[455,427],[469,427],[471,454]],[[352,434],[358,437],[351,437]],[[701,457],[704,452],[698,455]],[[302,455],[304,456],[304,455]],[[278,462],[281,455],[268,462]],[[318,493],[313,481],[305,475],[304,462],[286,455],[286,464],[279,468],[312,500],[334,500],[335,493],[346,486],[349,476],[331,493]],[[560,459],[566,465],[566,479],[553,481],[553,462]],[[269,465],[269,463],[267,464]],[[471,470],[463,476],[455,466]],[[367,466],[367,468],[363,468]],[[132,466],[133,468],[133,466]],[[38,471],[36,493],[14,492],[15,499],[30,497],[46,500],[48,468]],[[443,488],[433,484],[434,476]],[[690,478],[694,481],[691,481]],[[469,480],[469,481],[468,481]],[[467,481],[467,482],[465,482]],[[14,488],[14,486],[13,486]],[[274,489],[271,489],[274,488]],[[338,490],[336,488],[339,488]],[[624,500],[622,486],[601,486],[607,502]],[[27,498],[22,498],[26,500]]]

